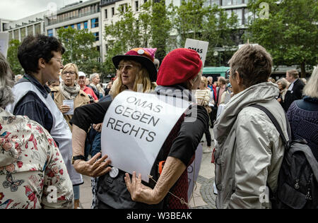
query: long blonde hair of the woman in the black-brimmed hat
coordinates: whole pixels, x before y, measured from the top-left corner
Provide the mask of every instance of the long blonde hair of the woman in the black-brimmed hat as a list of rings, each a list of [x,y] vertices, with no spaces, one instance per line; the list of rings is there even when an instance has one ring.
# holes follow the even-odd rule
[[[149,78],[149,73],[146,68],[141,66],[141,64],[139,64],[136,61],[126,61],[126,60],[122,60],[122,61],[130,62],[131,64],[139,66],[139,71],[136,75],[136,79],[135,79],[134,87],[133,87],[134,92],[137,92],[137,91],[151,92],[151,90],[155,88],[155,84],[151,83],[151,80]],[[112,88],[110,90],[110,95],[112,96],[112,99],[114,99],[114,97],[116,97],[120,92],[128,89],[126,85],[122,83],[122,76],[120,75],[120,73],[121,71],[117,70],[118,78],[114,80],[114,83],[112,83]],[[142,89],[139,89],[140,85]]]

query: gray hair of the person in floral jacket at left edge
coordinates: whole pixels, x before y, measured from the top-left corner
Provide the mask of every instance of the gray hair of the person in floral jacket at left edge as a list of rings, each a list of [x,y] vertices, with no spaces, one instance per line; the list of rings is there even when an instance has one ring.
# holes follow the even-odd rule
[[[13,73],[10,65],[3,54],[0,52],[0,107],[4,108],[6,105],[14,102],[11,88],[14,85]]]

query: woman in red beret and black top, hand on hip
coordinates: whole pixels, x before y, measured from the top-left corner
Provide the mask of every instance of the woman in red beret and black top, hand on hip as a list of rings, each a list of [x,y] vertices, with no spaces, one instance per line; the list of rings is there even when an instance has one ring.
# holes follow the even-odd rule
[[[192,49],[175,49],[163,59],[155,92],[192,101],[191,90],[199,87],[201,75],[202,61],[199,54]],[[193,112],[194,108],[190,110]],[[148,205],[163,203],[163,208],[170,209],[188,207],[180,201],[187,203],[187,167],[194,158],[204,131],[208,128],[206,109],[198,106],[195,110],[196,119],[190,121],[193,119],[191,116],[181,117],[175,125],[176,129],[174,128],[165,140],[158,155],[160,157],[160,154],[163,154],[163,157],[155,161],[151,173],[151,176],[158,176],[158,161],[165,160],[162,173],[158,180],[155,178],[157,183],[154,188],[143,185],[140,174],[136,177],[134,173],[132,179],[126,174],[126,186],[132,200]],[[172,195],[168,194],[169,191]]]

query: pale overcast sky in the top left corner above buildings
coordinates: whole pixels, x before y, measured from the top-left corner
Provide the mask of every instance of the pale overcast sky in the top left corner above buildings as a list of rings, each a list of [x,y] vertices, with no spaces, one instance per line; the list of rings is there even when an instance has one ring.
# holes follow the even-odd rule
[[[80,0],[0,0],[0,18],[18,20],[40,13],[49,7],[61,8]],[[88,0],[82,0],[88,1]]]

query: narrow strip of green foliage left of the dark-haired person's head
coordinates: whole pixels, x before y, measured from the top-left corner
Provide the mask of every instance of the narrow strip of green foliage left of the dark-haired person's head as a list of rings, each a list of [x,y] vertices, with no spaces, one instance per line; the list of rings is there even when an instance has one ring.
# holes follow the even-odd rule
[[[23,68],[21,67],[18,60],[18,47],[20,46],[20,44],[21,43],[19,40],[11,40],[8,47],[7,60],[11,66],[11,70],[13,71],[14,75],[24,73]]]

